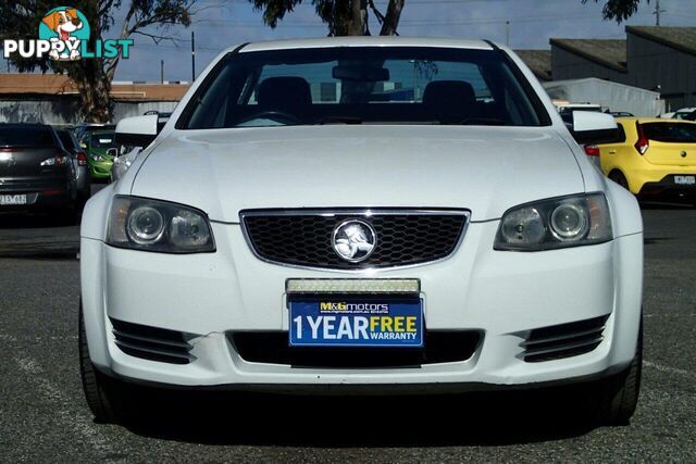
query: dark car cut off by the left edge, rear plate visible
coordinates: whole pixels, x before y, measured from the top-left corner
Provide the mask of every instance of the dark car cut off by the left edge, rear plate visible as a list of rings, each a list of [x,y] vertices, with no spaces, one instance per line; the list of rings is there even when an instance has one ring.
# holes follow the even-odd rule
[[[0,124],[0,212],[44,210],[67,217],[75,181],[72,154],[51,126]]]

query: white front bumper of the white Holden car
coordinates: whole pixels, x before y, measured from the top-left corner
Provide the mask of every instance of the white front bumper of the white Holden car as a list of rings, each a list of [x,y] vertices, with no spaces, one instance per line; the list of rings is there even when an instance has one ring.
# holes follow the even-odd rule
[[[90,356],[136,381],[279,391],[388,385],[455,390],[572,381],[616,372],[635,354],[642,288],[641,234],[537,253],[493,251],[497,222],[472,223],[448,260],[405,269],[346,274],[261,262],[238,225],[213,224],[217,251],[169,255],[82,240],[82,285]],[[147,258],[147,259],[144,259]],[[314,368],[249,362],[229,331],[288,329],[287,278],[418,278],[432,330],[477,330],[465,361],[399,368]],[[531,329],[607,316],[604,340],[576,356],[531,363]],[[176,365],[126,354],[111,318],[190,334],[194,361]]]

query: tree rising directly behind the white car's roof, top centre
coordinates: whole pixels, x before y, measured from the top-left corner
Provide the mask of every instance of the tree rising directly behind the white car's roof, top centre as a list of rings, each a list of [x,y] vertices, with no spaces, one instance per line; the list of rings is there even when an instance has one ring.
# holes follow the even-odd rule
[[[291,13],[302,0],[249,0],[257,11],[263,11],[263,22],[275,28],[278,21]],[[311,0],[316,14],[328,27],[330,36],[369,36],[369,12],[381,25],[381,36],[397,35],[397,27],[406,0],[389,0],[382,13],[374,0]]]

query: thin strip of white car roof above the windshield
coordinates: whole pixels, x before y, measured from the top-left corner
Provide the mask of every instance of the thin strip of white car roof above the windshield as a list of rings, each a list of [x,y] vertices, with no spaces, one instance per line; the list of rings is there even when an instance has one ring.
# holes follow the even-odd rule
[[[310,49],[330,47],[433,47],[462,48],[473,50],[493,50],[484,40],[463,40],[431,37],[397,36],[357,36],[357,37],[322,37],[312,39],[288,39],[251,42],[239,50],[239,53],[268,50]],[[227,51],[233,51],[232,47]]]

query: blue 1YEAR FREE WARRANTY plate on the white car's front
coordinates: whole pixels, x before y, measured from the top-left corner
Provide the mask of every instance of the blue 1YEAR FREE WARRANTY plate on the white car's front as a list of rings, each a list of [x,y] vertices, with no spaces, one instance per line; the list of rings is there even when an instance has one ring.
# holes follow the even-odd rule
[[[423,346],[420,298],[298,298],[289,305],[291,347]]]

